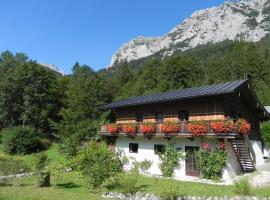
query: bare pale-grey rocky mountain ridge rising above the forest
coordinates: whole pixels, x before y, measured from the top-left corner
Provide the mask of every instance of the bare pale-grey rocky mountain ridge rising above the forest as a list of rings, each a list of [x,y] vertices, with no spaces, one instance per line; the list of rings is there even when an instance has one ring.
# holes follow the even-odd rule
[[[194,12],[168,34],[137,37],[124,44],[110,66],[159,53],[172,55],[198,45],[224,40],[260,41],[270,33],[270,0],[229,1],[219,7]]]

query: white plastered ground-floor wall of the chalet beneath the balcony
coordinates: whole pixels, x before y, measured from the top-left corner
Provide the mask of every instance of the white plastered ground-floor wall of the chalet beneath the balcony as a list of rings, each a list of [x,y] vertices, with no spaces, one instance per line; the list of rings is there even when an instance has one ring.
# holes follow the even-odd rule
[[[171,142],[174,143],[175,147],[179,149],[179,152],[184,153],[186,146],[201,146],[201,139],[194,138],[194,140],[185,139],[185,138],[172,138]],[[210,148],[215,148],[216,144],[219,142],[216,138],[205,138],[205,141],[210,145]],[[129,152],[129,143],[138,143],[138,153],[130,153]],[[159,156],[154,152],[155,144],[167,144],[167,139],[153,137],[151,140],[145,139],[144,137],[135,137],[134,139],[119,136],[116,140],[116,151],[123,151],[124,155],[131,160],[129,164],[124,166],[125,170],[130,170],[132,168],[132,159],[135,159],[138,162],[141,162],[145,159],[150,160],[152,162],[151,168],[148,170],[148,173],[151,175],[161,175],[161,171],[159,169]],[[226,145],[229,145],[225,143]],[[227,148],[227,147],[226,147]],[[223,178],[225,181],[231,180],[231,177],[235,174],[238,174],[241,171],[241,167],[239,166],[233,149],[230,148],[228,151],[228,162],[227,166],[224,169]],[[176,179],[181,179],[181,177],[186,176],[185,170],[185,160],[182,160],[179,166],[175,169],[174,174]]]

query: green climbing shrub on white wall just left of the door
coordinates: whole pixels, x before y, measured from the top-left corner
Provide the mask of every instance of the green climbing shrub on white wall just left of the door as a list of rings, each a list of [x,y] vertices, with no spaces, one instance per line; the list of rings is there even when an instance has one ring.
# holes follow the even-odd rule
[[[159,154],[159,159],[159,168],[162,175],[171,177],[174,169],[178,166],[179,161],[184,159],[184,155],[179,153],[172,144],[168,144],[165,147],[164,153]]]

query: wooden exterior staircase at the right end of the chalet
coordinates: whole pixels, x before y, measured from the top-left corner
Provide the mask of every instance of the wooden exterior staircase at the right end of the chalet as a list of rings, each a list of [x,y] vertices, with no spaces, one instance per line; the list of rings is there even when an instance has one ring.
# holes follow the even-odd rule
[[[255,171],[255,159],[252,159],[251,152],[244,138],[235,138],[231,140],[236,157],[244,173]],[[251,147],[252,148],[252,147]]]

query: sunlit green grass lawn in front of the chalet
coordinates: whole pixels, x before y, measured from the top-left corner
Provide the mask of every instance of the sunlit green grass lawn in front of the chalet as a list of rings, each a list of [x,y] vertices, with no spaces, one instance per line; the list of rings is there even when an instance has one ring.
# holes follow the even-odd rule
[[[45,151],[49,157],[49,166],[56,166],[65,161],[65,158],[58,153],[58,146],[52,145]],[[9,156],[0,152],[0,156]],[[33,163],[33,155],[14,156],[14,158],[24,160],[28,165]],[[12,183],[0,186],[0,200],[98,200],[101,193],[90,193],[87,184],[78,172],[63,173],[57,181],[57,186],[49,188],[38,188],[35,186],[35,177],[21,179],[21,186],[13,186]],[[218,186],[202,183],[183,182],[165,178],[151,178],[140,176],[138,187],[141,192],[159,194],[165,185],[178,186],[183,195],[193,196],[234,196],[234,186]],[[270,196],[270,187],[253,188],[253,196]]]

